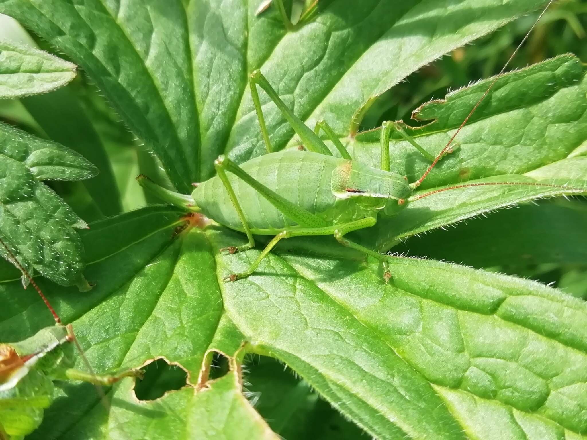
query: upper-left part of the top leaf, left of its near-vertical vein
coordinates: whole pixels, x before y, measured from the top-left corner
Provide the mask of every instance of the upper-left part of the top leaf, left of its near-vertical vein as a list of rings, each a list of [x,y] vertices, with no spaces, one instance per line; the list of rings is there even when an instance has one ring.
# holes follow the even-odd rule
[[[131,130],[154,148],[173,184],[186,191],[198,180],[200,163],[187,11],[178,1],[119,6],[3,1],[0,12],[82,66]]]

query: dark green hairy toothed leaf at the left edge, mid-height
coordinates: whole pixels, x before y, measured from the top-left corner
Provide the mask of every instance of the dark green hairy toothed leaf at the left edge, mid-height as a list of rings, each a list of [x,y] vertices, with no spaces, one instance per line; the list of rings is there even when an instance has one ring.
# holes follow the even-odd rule
[[[74,231],[87,225],[41,180],[96,174],[74,151],[0,123],[0,235],[31,275],[34,268],[60,285],[87,286],[83,246]],[[12,260],[4,246],[0,255]]]

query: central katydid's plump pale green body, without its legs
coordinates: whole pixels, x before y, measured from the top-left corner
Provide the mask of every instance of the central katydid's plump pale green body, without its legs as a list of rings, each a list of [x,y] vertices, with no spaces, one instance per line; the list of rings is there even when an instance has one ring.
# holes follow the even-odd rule
[[[365,198],[344,197],[345,194],[335,195],[333,192],[333,172],[335,175],[345,172],[345,168],[350,166],[350,161],[342,158],[299,150],[265,154],[240,165],[259,183],[320,216],[328,224],[349,222],[373,214],[373,207],[365,203]],[[360,163],[353,163],[352,170],[347,171],[366,175],[370,187],[377,185],[383,177],[379,175],[383,174],[381,170],[373,170]],[[374,172],[376,175],[372,175]],[[389,182],[390,174],[385,175],[384,183]],[[288,226],[296,225],[296,222],[284,216],[263,195],[237,176],[229,174],[228,178],[252,233],[275,235]],[[407,186],[403,178],[397,178],[402,180],[402,185]],[[230,195],[218,176],[199,184],[192,197],[205,216],[229,228],[243,231]]]

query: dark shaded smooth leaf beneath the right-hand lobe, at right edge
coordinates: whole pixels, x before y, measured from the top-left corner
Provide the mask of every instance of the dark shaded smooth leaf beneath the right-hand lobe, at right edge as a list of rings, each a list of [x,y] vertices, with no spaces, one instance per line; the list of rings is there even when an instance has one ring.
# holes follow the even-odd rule
[[[521,205],[457,228],[438,229],[393,250],[475,268],[580,264],[587,261],[585,224],[587,209],[581,202]]]

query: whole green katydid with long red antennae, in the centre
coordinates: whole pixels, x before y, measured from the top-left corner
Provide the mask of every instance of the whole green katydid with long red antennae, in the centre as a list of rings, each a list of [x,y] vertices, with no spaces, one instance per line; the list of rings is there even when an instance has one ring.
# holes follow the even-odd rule
[[[552,1],[554,0],[551,0],[542,11],[501,72],[495,76],[483,96],[436,157],[427,153],[412,138],[408,139],[411,145],[431,162],[423,175],[413,183],[407,182],[407,178],[402,175],[390,172],[390,132],[398,130],[404,138],[408,137],[399,124],[383,123],[380,136],[381,165],[379,169],[369,167],[352,160],[344,145],[325,121],[319,121],[315,131],[306,126],[279,98],[278,93],[259,70],[249,75],[249,89],[267,154],[240,165],[221,155],[214,163],[217,175],[200,184],[194,184],[196,188],[191,197],[160,188],[143,176],[139,177],[139,182],[167,201],[191,211],[202,212],[218,224],[244,232],[248,243],[226,248],[225,250],[230,253],[253,248],[254,235],[274,235],[247,270],[234,273],[226,277],[225,281],[235,281],[251,275],[261,260],[281,239],[317,235],[333,235],[342,245],[380,260],[383,265],[384,279],[387,281],[392,276],[388,268],[389,258],[392,257],[352,242],[345,235],[357,229],[375,225],[378,216],[396,215],[411,201],[440,191],[485,185],[532,185],[560,188],[561,193],[564,194],[583,192],[582,189],[540,182],[476,182],[414,194],[414,190],[426,179],[438,161],[451,152],[451,146],[457,134],[477,110],[481,101],[491,92],[495,82],[504,75],[505,69]],[[281,110],[307,151],[272,151],[257,86],[261,87]],[[340,153],[340,158],[334,157],[318,136],[321,131],[332,141]]]

